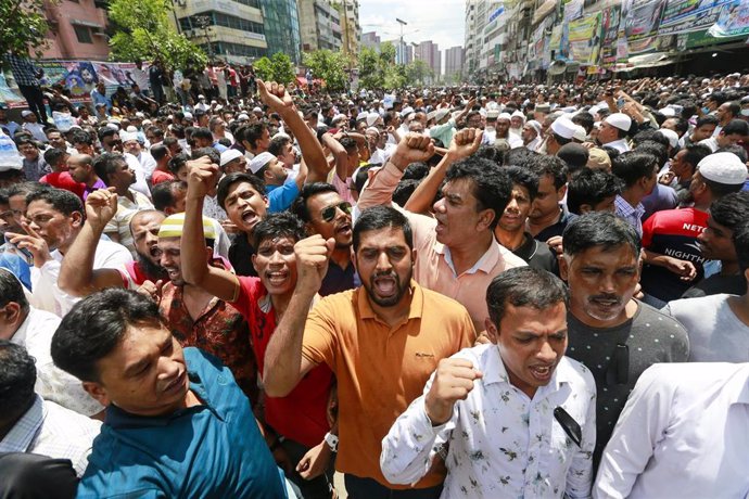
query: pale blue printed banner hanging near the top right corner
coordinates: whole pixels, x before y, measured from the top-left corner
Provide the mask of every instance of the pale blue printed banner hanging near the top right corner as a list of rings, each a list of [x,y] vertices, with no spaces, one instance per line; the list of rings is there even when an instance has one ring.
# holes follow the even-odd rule
[[[733,0],[668,0],[658,35],[676,35],[707,29],[718,22],[723,7]]]

